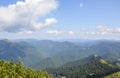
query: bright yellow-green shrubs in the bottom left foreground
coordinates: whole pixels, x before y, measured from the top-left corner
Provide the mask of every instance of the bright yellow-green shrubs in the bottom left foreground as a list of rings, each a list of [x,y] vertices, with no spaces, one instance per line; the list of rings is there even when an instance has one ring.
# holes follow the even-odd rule
[[[14,64],[13,60],[6,62],[0,60],[0,78],[52,78],[43,71],[35,71],[26,68],[19,61]]]

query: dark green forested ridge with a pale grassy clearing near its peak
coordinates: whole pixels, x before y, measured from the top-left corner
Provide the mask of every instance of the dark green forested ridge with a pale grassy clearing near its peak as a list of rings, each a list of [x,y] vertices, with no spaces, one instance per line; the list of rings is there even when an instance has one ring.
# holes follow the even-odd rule
[[[93,58],[93,57],[89,57]],[[88,59],[88,58],[86,58]],[[74,62],[75,63],[75,62]],[[88,63],[47,69],[55,78],[104,78],[104,76],[120,71],[119,67],[99,57]]]

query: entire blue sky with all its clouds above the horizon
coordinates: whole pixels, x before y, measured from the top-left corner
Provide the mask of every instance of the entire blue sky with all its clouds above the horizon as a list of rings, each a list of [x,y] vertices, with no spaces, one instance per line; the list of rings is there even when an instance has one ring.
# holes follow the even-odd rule
[[[119,7],[120,0],[0,0],[0,35],[120,39]]]

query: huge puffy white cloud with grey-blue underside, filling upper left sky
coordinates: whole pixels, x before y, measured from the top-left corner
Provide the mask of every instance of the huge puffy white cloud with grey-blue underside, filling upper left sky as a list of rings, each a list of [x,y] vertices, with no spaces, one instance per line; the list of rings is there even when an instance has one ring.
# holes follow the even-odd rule
[[[56,0],[25,0],[0,7],[0,30],[6,32],[35,31],[57,23],[55,18],[39,22],[40,17],[57,8]]]

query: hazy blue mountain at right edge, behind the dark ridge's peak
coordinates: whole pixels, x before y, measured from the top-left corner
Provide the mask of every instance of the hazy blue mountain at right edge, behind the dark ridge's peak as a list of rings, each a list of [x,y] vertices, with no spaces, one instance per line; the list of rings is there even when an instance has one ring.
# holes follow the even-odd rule
[[[120,55],[120,41],[100,41],[98,44],[89,47],[98,55],[114,53]]]

